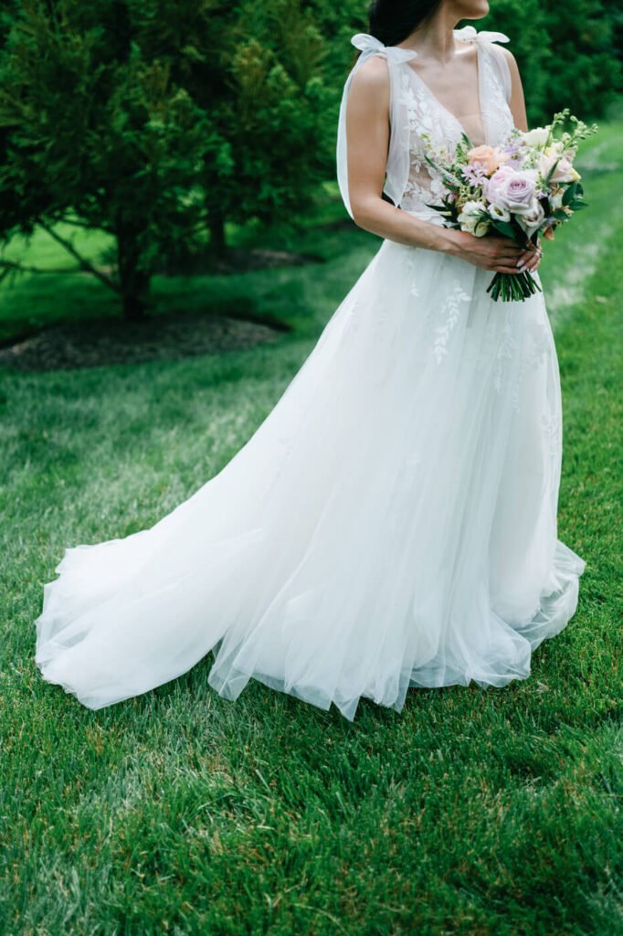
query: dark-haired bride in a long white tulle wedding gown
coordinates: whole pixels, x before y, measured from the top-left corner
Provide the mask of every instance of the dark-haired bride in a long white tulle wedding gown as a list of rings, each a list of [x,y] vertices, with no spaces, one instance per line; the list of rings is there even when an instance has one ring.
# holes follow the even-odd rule
[[[361,696],[503,686],[575,611],[585,563],[558,540],[558,359],[540,293],[492,271],[540,249],[442,227],[423,135],[451,150],[526,130],[485,0],[372,3],[346,81],[338,179],[383,238],[235,457],[151,529],[65,550],[36,665],[90,709],[210,651],[210,686],[254,678],[352,720]]]

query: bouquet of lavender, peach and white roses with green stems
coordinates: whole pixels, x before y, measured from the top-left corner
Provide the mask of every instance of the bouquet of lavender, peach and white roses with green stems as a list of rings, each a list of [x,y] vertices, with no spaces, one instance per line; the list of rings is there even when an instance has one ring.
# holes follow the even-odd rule
[[[560,132],[567,120],[571,132]],[[553,241],[555,228],[586,207],[573,159],[579,140],[596,132],[597,124],[588,127],[567,108],[548,126],[528,133],[514,127],[500,146],[474,147],[464,133],[451,161],[446,153],[435,153],[423,134],[427,162],[448,189],[442,205],[428,207],[442,213],[445,227],[476,237],[499,233],[524,249],[538,247],[540,234]],[[523,301],[537,290],[540,286],[524,271],[497,272],[486,291],[493,300]]]

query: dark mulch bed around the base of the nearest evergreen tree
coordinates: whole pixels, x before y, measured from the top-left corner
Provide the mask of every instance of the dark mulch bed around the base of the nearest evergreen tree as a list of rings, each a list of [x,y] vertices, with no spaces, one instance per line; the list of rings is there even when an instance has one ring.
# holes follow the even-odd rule
[[[97,319],[53,326],[0,348],[0,367],[73,370],[107,364],[180,360],[275,342],[280,332],[260,322],[214,313],[162,314],[141,322]]]

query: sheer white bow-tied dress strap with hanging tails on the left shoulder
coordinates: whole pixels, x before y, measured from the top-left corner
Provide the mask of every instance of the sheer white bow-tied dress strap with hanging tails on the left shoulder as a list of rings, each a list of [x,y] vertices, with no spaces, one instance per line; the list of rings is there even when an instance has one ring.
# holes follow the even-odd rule
[[[400,102],[400,66],[416,58],[417,53],[412,49],[398,49],[398,46],[384,46],[380,39],[370,36],[368,33],[357,33],[351,39],[351,43],[355,46],[355,49],[361,52],[361,55],[359,55],[355,66],[351,69],[341,95],[340,117],[338,119],[337,162],[340,195],[346,206],[346,211],[353,217],[348,194],[348,158],[346,151],[346,103],[348,101],[351,81],[353,80],[355,72],[373,55],[380,55],[386,60],[387,67],[389,68],[389,122],[391,125],[391,133],[389,152],[387,154],[384,192],[392,199],[394,204],[398,205],[409,177],[409,122],[408,118],[406,118],[405,114],[402,112],[404,108]]]

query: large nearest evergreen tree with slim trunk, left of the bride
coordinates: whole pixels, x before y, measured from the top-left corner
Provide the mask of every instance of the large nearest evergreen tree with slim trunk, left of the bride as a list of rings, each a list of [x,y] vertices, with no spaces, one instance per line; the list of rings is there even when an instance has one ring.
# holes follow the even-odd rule
[[[326,175],[322,39],[298,0],[16,0],[0,20],[0,235],[43,227],[143,314],[154,264]],[[109,231],[117,273],[58,221]],[[13,265],[3,261],[5,271]]]

